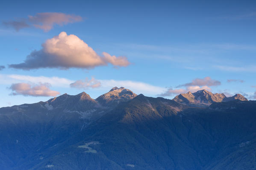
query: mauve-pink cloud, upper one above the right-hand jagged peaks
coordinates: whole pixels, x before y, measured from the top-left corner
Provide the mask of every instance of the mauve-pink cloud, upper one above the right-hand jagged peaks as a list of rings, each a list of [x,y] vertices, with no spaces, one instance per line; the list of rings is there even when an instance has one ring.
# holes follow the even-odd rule
[[[212,79],[211,77],[205,77],[203,79],[197,78],[193,79],[192,82],[183,84],[183,85],[178,85],[177,88],[182,87],[182,86],[217,86],[221,85],[221,82],[215,79]]]

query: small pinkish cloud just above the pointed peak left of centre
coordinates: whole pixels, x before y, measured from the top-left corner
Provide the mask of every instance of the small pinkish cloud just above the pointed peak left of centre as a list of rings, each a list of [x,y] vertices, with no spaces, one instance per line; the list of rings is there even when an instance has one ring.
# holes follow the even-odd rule
[[[101,83],[92,77],[90,80],[86,77],[85,80],[77,80],[70,84],[71,88],[87,89],[87,88],[99,88]]]

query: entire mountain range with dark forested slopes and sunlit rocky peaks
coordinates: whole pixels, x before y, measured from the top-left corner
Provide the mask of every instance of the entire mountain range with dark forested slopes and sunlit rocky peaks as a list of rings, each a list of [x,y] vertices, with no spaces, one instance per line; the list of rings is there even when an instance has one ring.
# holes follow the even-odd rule
[[[112,88],[0,108],[1,170],[254,170],[256,101]]]

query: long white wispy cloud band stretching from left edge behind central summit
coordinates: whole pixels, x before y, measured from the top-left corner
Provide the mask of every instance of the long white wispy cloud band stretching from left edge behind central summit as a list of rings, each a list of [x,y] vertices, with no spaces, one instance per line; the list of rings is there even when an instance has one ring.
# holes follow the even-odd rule
[[[84,87],[83,85],[86,85],[86,79],[81,81],[82,81],[81,86],[78,85],[79,83],[76,83],[77,87],[82,88]],[[88,82],[90,81],[91,80],[88,80]],[[0,74],[0,84],[10,85],[10,84],[15,84],[20,82],[27,83],[27,84],[49,83],[53,87],[70,88],[70,85],[76,81],[72,79],[62,78],[62,77],[44,77],[44,76],[33,77],[33,76],[18,75],[18,74]],[[167,90],[167,88],[150,85],[145,82],[132,81],[132,80],[114,80],[114,79],[95,79],[94,78],[93,82],[94,83],[91,83],[90,85],[94,85],[94,87],[99,85],[99,82],[100,82],[100,86],[98,88],[95,88],[100,91],[108,91],[115,86],[118,86],[118,87],[123,86],[125,88],[128,88],[134,91],[137,94],[142,93],[142,94],[156,96],[157,94],[161,94]]]

